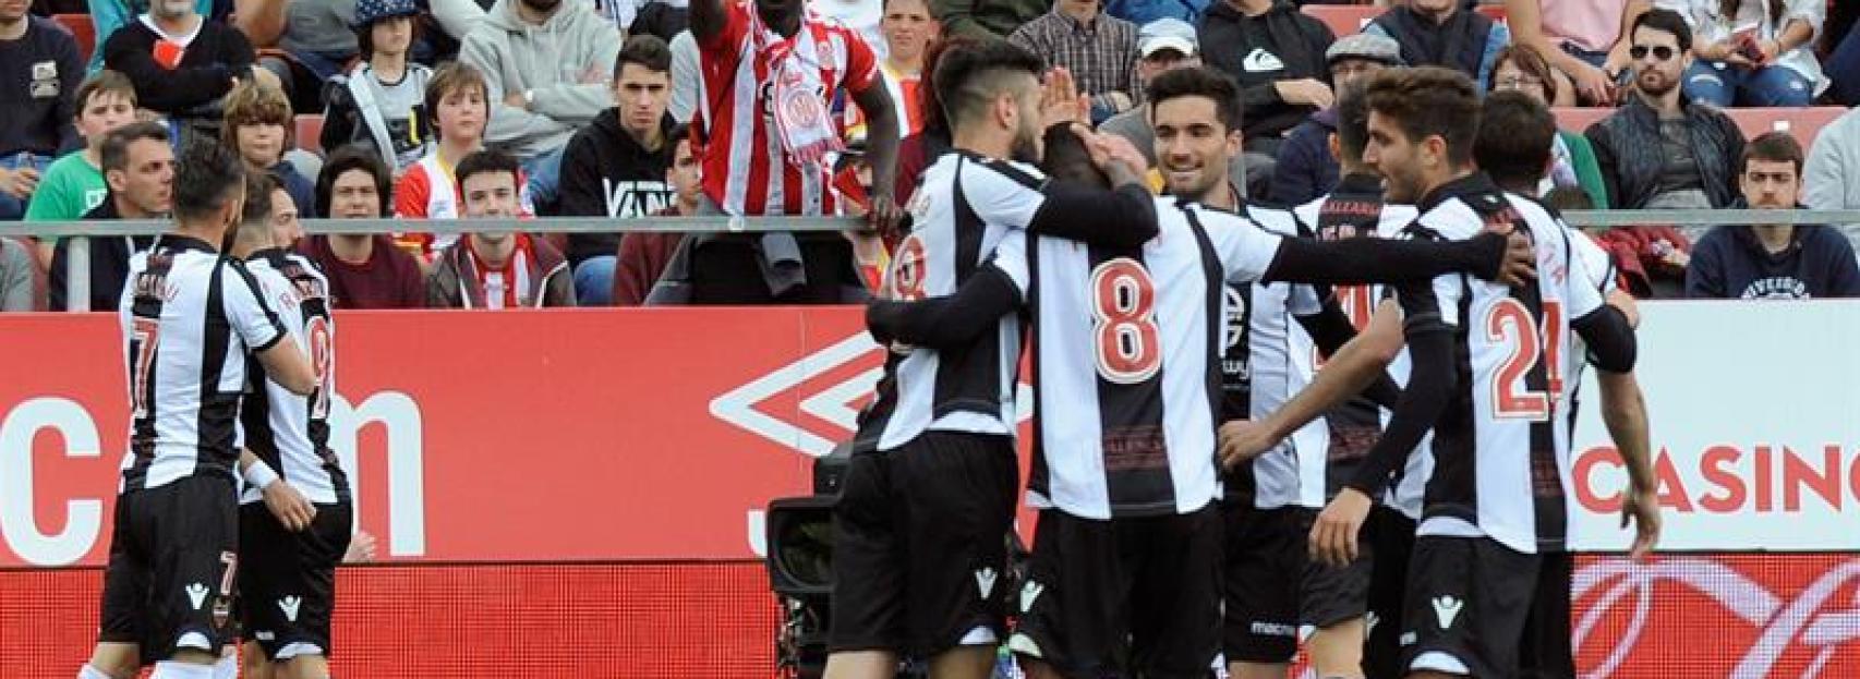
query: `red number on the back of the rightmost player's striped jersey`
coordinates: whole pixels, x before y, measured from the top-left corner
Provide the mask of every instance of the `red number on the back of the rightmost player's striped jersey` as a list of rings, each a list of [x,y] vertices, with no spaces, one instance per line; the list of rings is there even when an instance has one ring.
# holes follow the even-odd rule
[[[1512,350],[1492,381],[1492,417],[1501,420],[1549,420],[1551,407],[1562,394],[1562,303],[1544,301],[1542,327],[1531,320],[1531,311],[1510,298],[1499,300],[1486,313],[1486,340]],[[1525,383],[1538,357],[1546,359],[1548,391],[1534,391]]]

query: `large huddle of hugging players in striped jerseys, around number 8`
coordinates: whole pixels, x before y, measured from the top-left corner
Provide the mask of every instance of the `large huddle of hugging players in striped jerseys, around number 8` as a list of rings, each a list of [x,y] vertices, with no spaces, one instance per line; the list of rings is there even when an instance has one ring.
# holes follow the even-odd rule
[[[1555,123],[1443,69],[1337,99],[1343,180],[1248,205],[1241,97],[1149,84],[1153,171],[999,41],[932,74],[924,169],[835,512],[828,677],[1572,677],[1570,430],[1592,365],[1659,538],[1637,311],[1534,199]],[[1032,353],[1030,560],[1010,575]],[[1010,627],[1012,621],[1012,627]]]

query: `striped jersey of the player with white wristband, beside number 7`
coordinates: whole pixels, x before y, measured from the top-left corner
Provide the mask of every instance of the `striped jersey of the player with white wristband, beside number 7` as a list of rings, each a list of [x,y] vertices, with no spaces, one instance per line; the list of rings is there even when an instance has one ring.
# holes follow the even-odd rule
[[[275,303],[285,331],[316,372],[316,391],[298,396],[268,379],[257,357],[251,359],[251,391],[240,407],[246,448],[311,502],[348,502],[348,478],[329,450],[329,398],[337,383],[337,326],[329,316],[329,281],[309,259],[285,249],[253,253],[246,268],[259,281],[264,298]],[[240,502],[260,499],[257,487],[246,487]]]

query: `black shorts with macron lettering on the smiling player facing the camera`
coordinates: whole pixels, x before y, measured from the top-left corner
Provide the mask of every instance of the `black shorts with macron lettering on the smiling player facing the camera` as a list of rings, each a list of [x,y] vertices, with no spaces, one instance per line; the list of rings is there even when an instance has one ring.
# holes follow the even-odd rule
[[[1298,508],[1222,502],[1220,649],[1228,662],[1280,664],[1298,655],[1298,580],[1306,536]]]

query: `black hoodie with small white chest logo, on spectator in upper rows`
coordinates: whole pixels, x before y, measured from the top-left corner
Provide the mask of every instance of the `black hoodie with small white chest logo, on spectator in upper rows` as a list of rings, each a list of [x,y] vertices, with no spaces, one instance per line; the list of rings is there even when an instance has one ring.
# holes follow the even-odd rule
[[[1202,61],[1233,76],[1241,86],[1248,140],[1278,138],[1317,112],[1293,106],[1272,87],[1278,80],[1317,78],[1330,82],[1324,50],[1335,41],[1324,22],[1276,0],[1259,17],[1246,17],[1228,2],[1213,2],[1200,28]]]

